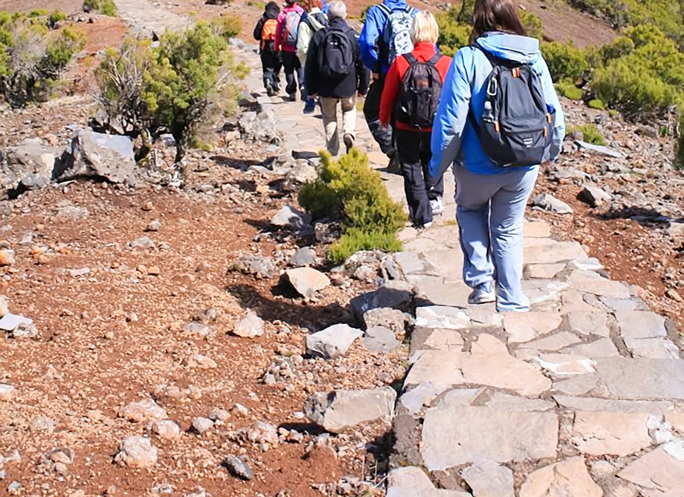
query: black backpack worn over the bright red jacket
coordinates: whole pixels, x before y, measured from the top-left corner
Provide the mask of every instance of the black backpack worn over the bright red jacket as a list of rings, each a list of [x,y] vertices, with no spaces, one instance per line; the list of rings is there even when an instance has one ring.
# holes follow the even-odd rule
[[[399,90],[395,118],[415,128],[430,128],[442,94],[442,77],[437,70],[437,62],[442,56],[436,53],[425,62],[419,62],[410,53],[404,57],[409,66]]]

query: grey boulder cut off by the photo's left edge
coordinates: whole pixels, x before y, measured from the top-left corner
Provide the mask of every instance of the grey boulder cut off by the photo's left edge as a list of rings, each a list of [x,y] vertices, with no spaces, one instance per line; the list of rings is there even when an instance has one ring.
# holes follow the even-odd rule
[[[1,157],[5,156],[6,163]],[[44,146],[38,138],[25,139],[16,147],[8,147],[0,154],[0,199],[8,198],[10,191],[19,185],[28,189],[42,188],[53,178],[55,165],[59,163],[57,148]]]

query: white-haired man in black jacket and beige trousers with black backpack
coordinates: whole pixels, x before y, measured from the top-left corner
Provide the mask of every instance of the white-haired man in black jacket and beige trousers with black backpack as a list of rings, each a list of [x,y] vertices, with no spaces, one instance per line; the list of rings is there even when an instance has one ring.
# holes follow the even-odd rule
[[[306,55],[304,79],[311,95],[321,97],[326,146],[331,155],[339,153],[337,104],[342,109],[343,141],[347,152],[356,135],[356,94],[368,91],[370,75],[360,59],[358,33],[345,22],[347,6],[330,2],[330,25],[313,36]]]

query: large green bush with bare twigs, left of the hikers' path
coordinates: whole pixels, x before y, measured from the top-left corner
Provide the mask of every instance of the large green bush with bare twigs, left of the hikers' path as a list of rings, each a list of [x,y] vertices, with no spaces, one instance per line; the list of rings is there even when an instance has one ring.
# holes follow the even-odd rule
[[[248,72],[235,64],[224,26],[200,21],[187,31],[163,34],[155,47],[129,38],[120,49],[110,49],[96,70],[109,118],[144,140],[171,133],[180,161],[189,144],[201,142],[196,133],[209,113],[235,108],[233,82]]]

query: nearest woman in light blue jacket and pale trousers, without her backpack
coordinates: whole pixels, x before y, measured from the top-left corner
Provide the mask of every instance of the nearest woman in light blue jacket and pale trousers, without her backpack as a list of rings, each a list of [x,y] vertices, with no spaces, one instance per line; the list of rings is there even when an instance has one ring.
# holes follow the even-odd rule
[[[521,290],[523,223],[539,165],[499,167],[480,144],[475,126],[482,124],[486,110],[484,86],[492,56],[529,64],[540,77],[549,113],[555,111],[548,155],[557,157],[565,135],[564,116],[538,40],[525,36],[511,0],[477,0],[471,46],[456,53],[444,82],[432,131],[430,174],[436,176],[453,163],[463,279],[473,288],[469,303],[496,301],[500,312],[525,312],[529,299]]]

